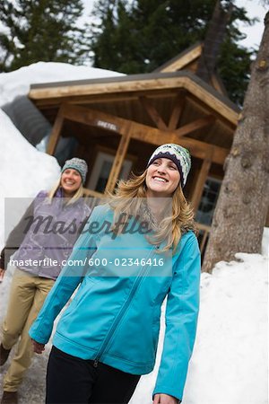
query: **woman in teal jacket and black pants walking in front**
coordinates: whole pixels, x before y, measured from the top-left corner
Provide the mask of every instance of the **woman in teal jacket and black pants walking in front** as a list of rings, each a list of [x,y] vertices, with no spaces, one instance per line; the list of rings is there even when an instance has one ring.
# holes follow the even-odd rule
[[[97,206],[30,329],[42,353],[57,314],[47,403],[127,403],[152,372],[167,297],[154,404],[182,400],[195,342],[200,252],[182,189],[190,156],[161,145],[142,175]]]

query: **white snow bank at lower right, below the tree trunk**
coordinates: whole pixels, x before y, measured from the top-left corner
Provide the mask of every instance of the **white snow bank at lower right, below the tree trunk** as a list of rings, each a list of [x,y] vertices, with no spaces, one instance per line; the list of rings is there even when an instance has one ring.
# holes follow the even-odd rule
[[[197,337],[183,404],[267,404],[268,258],[238,253],[201,279]],[[163,308],[164,309],[164,308]],[[164,310],[163,310],[164,311]],[[130,404],[151,404],[154,371],[143,376]]]

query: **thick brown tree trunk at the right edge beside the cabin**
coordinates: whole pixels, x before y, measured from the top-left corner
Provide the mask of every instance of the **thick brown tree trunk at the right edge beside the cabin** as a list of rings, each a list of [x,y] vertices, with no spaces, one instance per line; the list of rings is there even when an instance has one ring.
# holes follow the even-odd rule
[[[236,252],[260,253],[269,202],[269,13],[213,216],[204,271]]]

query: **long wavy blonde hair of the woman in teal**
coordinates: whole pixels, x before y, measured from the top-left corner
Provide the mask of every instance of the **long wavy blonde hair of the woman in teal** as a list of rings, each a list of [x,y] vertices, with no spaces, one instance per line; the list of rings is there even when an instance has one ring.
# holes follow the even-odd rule
[[[116,194],[109,195],[110,201],[108,203],[114,210],[114,224],[122,213],[126,214],[125,218],[120,221],[120,226],[117,226],[118,233],[121,233],[124,228],[128,220],[128,215],[135,216],[139,215],[139,212],[141,212],[143,198],[147,198],[146,174],[147,170],[145,170],[142,175],[136,176],[133,174],[130,180],[120,180]],[[148,238],[148,240],[153,245],[158,245],[166,240],[167,243],[160,252],[170,249],[175,252],[182,234],[186,233],[188,230],[195,232],[193,209],[187,203],[180,185],[178,185],[178,188],[174,191],[172,196],[172,214],[167,206],[164,206],[161,214],[162,219],[158,226],[158,231],[154,233],[153,238]]]

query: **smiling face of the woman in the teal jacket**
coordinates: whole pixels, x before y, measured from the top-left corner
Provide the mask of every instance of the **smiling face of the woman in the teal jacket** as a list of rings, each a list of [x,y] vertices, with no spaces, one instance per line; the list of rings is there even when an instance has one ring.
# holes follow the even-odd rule
[[[172,160],[156,159],[148,167],[145,181],[147,197],[171,197],[180,181],[178,167]]]

